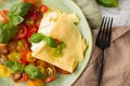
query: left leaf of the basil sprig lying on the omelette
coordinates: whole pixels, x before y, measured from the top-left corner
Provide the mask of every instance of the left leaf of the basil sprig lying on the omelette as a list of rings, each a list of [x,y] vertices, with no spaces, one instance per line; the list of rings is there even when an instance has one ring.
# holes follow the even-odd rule
[[[42,33],[35,33],[30,37],[30,42],[32,43],[38,43],[43,40],[43,34]]]

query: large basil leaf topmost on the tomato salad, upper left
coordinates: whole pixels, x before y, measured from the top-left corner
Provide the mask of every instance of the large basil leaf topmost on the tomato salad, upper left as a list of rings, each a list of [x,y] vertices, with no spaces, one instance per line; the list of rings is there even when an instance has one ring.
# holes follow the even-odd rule
[[[17,4],[14,4],[11,8],[11,13],[12,15],[20,15],[20,16],[25,16],[30,9],[31,4],[28,2],[21,2]]]

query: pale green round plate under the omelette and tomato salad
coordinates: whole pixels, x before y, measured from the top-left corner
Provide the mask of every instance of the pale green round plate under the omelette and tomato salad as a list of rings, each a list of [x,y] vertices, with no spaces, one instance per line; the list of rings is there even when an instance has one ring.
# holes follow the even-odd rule
[[[0,0],[2,1],[2,0]],[[20,2],[21,0],[3,0],[2,4],[0,2],[0,9],[9,9],[11,5],[13,5],[16,2]],[[89,47],[84,53],[84,59],[79,62],[76,71],[70,75],[63,75],[57,74],[57,78],[54,82],[49,83],[47,86],[72,86],[76,80],[80,76],[80,74],[83,72],[83,70],[87,67],[87,63],[90,59],[91,53],[92,53],[92,33],[91,29],[88,25],[88,22],[82,13],[82,11],[75,4],[72,0],[42,0],[44,4],[48,6],[54,6],[60,9],[63,12],[66,13],[76,13],[80,19],[79,24],[77,25],[82,37],[87,40],[89,43]],[[12,85],[11,85],[12,84]],[[0,86],[25,86],[23,85],[14,85],[10,78],[0,78]]]

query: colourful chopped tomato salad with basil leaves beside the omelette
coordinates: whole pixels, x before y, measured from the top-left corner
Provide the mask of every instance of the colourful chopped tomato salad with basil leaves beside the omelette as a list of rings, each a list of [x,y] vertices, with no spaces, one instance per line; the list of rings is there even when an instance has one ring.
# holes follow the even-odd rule
[[[15,11],[14,11],[15,10]],[[46,4],[37,6],[35,0],[22,0],[13,8],[0,11],[0,70],[10,70],[8,76],[12,76],[15,83],[28,82],[28,86],[52,82],[56,78],[56,72],[70,74],[31,55],[30,37],[39,29],[39,22],[49,8]],[[60,44],[58,40],[49,40]],[[12,72],[11,72],[12,71]],[[0,74],[0,76],[6,76]]]

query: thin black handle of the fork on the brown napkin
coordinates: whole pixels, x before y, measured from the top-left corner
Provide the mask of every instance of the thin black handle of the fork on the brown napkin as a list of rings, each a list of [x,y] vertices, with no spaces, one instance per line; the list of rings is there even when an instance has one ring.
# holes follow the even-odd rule
[[[104,49],[102,49],[102,55],[100,58],[100,63],[99,63],[99,77],[98,77],[98,86],[102,86],[102,77],[103,77],[103,68],[104,68]]]

